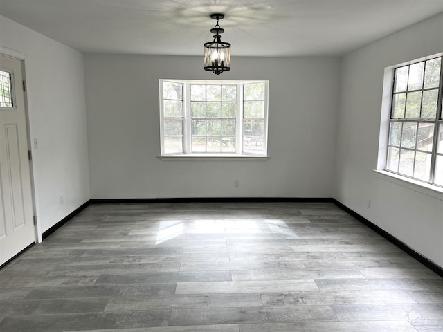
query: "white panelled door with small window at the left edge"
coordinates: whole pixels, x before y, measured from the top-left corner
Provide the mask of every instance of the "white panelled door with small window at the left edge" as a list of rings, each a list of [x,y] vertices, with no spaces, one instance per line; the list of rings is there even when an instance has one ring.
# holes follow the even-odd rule
[[[35,242],[21,62],[0,55],[0,265]]]

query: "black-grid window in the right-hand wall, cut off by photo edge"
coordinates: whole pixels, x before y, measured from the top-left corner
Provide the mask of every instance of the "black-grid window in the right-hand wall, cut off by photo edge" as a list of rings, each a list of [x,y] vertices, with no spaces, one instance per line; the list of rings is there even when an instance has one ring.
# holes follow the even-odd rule
[[[394,70],[386,171],[443,186],[442,57]]]

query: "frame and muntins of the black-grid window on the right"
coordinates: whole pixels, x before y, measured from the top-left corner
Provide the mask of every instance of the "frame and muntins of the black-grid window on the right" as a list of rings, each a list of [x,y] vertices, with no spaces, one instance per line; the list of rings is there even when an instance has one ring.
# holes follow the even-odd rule
[[[439,76],[439,81],[438,81],[438,86],[436,88],[425,88],[424,87],[424,82],[422,82],[422,87],[421,89],[408,89],[408,87],[406,87],[405,91],[395,91],[395,82],[396,82],[396,72],[398,68],[402,68],[405,66],[408,66],[408,80],[410,77],[410,66],[414,65],[414,64],[418,64],[420,62],[424,62],[425,66],[423,68],[423,77],[422,79],[424,80],[424,75],[426,75],[426,62],[432,59],[437,59],[440,58],[440,76]],[[386,127],[383,126],[383,117],[381,120],[381,129],[383,130],[383,127],[386,128],[386,136],[384,136],[383,138],[383,133],[381,132],[381,146],[386,147],[385,149],[385,153],[383,154],[383,163],[382,163],[382,167],[379,167],[379,171],[377,172],[384,172],[384,174],[386,175],[390,175],[390,176],[394,176],[395,178],[400,178],[400,179],[404,179],[406,181],[409,181],[411,183],[415,183],[416,185],[420,185],[423,187],[427,187],[428,189],[431,190],[437,190],[437,192],[443,192],[443,183],[435,183],[435,174],[436,174],[436,167],[437,167],[437,156],[442,156],[443,159],[443,154],[442,152],[438,151],[438,144],[439,144],[439,134],[440,134],[440,128],[443,128],[443,111],[442,111],[442,105],[443,105],[443,54],[437,54],[437,55],[431,55],[429,57],[424,57],[421,59],[415,59],[413,61],[404,63],[404,64],[398,64],[396,66],[392,66],[390,68],[386,68],[385,69],[385,73],[390,72],[389,75],[389,82],[387,82],[386,80],[386,75],[385,75],[385,86],[387,84],[390,85],[390,91],[389,91],[389,102],[388,102],[388,117],[387,117],[387,125]],[[408,81],[406,81],[406,85],[408,85]],[[399,95],[400,93],[405,93],[405,97],[407,98],[407,94],[408,93],[414,93],[416,91],[421,92],[422,98],[423,98],[423,93],[424,91],[431,91],[431,90],[437,90],[437,105],[436,105],[436,114],[435,114],[435,118],[420,118],[421,113],[423,111],[422,106],[423,106],[423,99],[420,101],[420,107],[419,107],[419,117],[418,118],[407,118],[406,117],[406,107],[407,107],[407,99],[405,100],[405,109],[404,109],[404,118],[395,118],[394,116],[394,101],[395,101],[395,95]],[[386,102],[383,101],[383,104],[385,104]],[[383,111],[383,106],[382,106],[382,115],[386,114]],[[390,144],[390,136],[391,136],[391,124],[392,123],[401,123],[401,133],[400,133],[400,137],[399,137],[399,143],[398,143],[398,148],[399,148],[399,160],[398,160],[398,165],[397,165],[397,172],[395,172],[392,169],[388,169],[388,163],[389,163],[389,154],[390,154],[390,147],[396,147],[395,145],[391,145]],[[415,146],[414,148],[408,148],[408,147],[402,147],[402,136],[403,136],[403,130],[404,130],[404,123],[415,123],[416,124],[416,129],[415,129]],[[433,124],[434,128],[433,128],[433,145],[432,145],[432,149],[431,151],[426,151],[423,149],[419,149],[418,145],[417,145],[417,136],[418,136],[418,131],[419,131],[419,127],[420,124]],[[381,131],[382,131],[381,130]],[[384,142],[382,141],[382,138],[384,140]],[[440,145],[443,145],[443,140],[440,141]],[[413,165],[413,174],[412,176],[409,176],[408,174],[404,174],[400,172],[399,169],[399,163],[401,160],[401,151],[402,149],[406,149],[408,151],[413,151],[414,152],[414,165]],[[440,149],[442,149],[442,147],[440,147]],[[430,162],[430,170],[429,170],[429,174],[428,174],[428,178],[426,180],[423,180],[421,178],[417,178],[415,177],[414,173],[415,173],[415,166],[416,166],[416,154],[417,152],[424,152],[430,155],[431,157],[431,162]],[[380,164],[379,164],[380,165]]]

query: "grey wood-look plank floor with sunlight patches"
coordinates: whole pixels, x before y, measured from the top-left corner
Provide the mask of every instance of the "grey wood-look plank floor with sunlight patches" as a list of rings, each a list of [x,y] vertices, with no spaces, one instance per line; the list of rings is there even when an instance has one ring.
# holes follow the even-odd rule
[[[90,205],[0,270],[0,331],[443,331],[443,279],[332,203]]]

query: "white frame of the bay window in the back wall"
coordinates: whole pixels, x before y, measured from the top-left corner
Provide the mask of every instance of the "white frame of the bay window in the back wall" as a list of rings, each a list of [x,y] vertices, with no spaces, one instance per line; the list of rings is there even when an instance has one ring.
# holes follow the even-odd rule
[[[171,82],[182,84],[182,96],[183,96],[183,117],[174,118],[175,120],[182,120],[182,146],[183,151],[177,153],[165,154],[165,140],[164,140],[164,128],[163,124],[165,119],[171,117],[165,117],[163,112],[163,83]],[[244,86],[246,84],[264,83],[264,142],[263,142],[263,154],[253,154],[243,151],[243,122],[244,122]],[[235,111],[235,152],[192,152],[191,140],[192,140],[192,128],[191,128],[191,98],[190,98],[190,86],[191,84],[197,85],[235,85],[237,90],[236,96],[236,111]],[[220,101],[223,102],[222,100]],[[159,80],[159,113],[160,113],[160,146],[161,154],[159,158],[162,160],[179,158],[185,160],[186,158],[205,158],[206,160],[221,160],[221,159],[250,159],[250,160],[266,160],[268,157],[268,115],[269,115],[269,81],[268,80],[177,80],[177,79],[160,79]],[[210,118],[206,118],[210,119]],[[215,118],[218,119],[218,118]],[[223,120],[223,118],[220,118]],[[234,118],[233,118],[234,119]],[[249,118],[248,118],[249,120]]]

